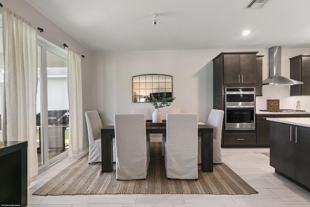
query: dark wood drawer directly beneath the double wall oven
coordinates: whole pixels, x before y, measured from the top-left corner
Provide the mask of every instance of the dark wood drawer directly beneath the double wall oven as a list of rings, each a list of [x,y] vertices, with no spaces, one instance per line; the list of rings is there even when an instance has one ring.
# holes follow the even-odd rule
[[[224,145],[256,145],[256,133],[224,133]]]

